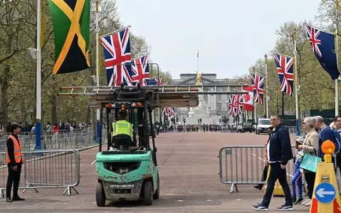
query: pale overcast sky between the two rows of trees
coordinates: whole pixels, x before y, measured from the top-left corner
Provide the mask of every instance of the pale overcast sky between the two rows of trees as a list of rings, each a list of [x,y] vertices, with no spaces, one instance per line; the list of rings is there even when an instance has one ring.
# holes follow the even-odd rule
[[[122,23],[152,47],[173,79],[199,71],[231,78],[248,72],[276,42],[285,21],[313,20],[320,0],[116,0]]]

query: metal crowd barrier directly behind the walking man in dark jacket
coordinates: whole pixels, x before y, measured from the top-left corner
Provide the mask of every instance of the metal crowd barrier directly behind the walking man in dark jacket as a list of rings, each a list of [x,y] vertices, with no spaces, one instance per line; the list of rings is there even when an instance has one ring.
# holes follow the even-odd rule
[[[265,148],[266,146],[224,146],[220,149],[219,177],[224,184],[231,184],[230,193],[234,192],[234,188],[238,192],[237,185],[266,184],[266,181],[261,181],[266,165]],[[295,155],[295,146],[292,146],[292,150]],[[289,160],[286,166],[289,184],[294,170],[293,160]]]

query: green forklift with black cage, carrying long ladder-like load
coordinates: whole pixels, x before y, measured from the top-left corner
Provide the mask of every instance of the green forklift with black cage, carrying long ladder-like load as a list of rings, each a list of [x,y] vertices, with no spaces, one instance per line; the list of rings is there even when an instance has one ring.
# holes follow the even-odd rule
[[[149,131],[154,131],[152,110],[157,91],[152,87],[137,85],[135,88],[125,88],[121,85],[110,91],[112,102],[100,103],[100,129],[103,130],[105,114],[107,147],[105,150],[102,148],[101,131],[95,161],[98,207],[104,207],[106,201],[141,200],[151,205],[153,200],[159,199],[159,168],[154,134],[149,138]],[[112,122],[117,121],[117,114],[122,110],[127,111],[127,121],[134,125],[133,139],[125,135],[112,137]],[[113,119],[110,119],[112,115]]]

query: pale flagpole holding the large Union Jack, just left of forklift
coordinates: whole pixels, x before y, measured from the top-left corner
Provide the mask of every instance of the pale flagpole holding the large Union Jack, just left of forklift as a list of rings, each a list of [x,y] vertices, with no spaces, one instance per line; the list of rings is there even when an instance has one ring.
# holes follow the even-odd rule
[[[100,87],[100,67],[99,67],[99,33],[100,33],[100,27],[99,27],[99,11],[98,11],[98,4],[99,0],[95,1],[95,13],[96,13],[96,86]],[[95,124],[95,122],[93,122]],[[100,143],[100,109],[96,110],[96,142]]]

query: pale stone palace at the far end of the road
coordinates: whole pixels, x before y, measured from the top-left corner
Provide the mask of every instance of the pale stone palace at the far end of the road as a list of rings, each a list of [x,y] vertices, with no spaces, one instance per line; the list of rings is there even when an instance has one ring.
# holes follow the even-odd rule
[[[170,85],[195,85],[196,84],[196,73],[190,73],[190,74],[180,74],[180,79],[174,79],[171,80],[169,83]],[[209,85],[209,84],[238,84],[238,80],[235,79],[218,79],[216,77],[216,74],[214,73],[203,73],[201,75],[201,83],[203,85]],[[220,91],[227,91],[227,88],[219,88]],[[217,91],[219,91],[217,89]],[[205,88],[207,91],[207,89]],[[213,88],[212,88],[213,90]],[[223,115],[228,114],[228,104],[229,104],[229,95],[227,94],[200,94],[199,99],[201,99],[202,105],[201,109],[194,109],[194,111],[190,111],[188,108],[178,108],[175,109],[179,121],[182,121],[182,119],[186,119],[187,117],[190,117],[192,114],[200,114],[200,116],[207,115],[206,122],[209,123],[215,123],[219,121],[219,118]],[[198,116],[199,117],[199,116]],[[192,123],[196,123],[195,120]]]

